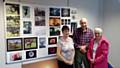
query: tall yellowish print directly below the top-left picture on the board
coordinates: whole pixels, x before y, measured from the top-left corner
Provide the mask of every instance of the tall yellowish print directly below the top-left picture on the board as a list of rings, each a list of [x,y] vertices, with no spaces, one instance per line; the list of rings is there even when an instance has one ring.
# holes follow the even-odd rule
[[[17,37],[20,35],[20,17],[7,16],[6,18],[7,37]]]

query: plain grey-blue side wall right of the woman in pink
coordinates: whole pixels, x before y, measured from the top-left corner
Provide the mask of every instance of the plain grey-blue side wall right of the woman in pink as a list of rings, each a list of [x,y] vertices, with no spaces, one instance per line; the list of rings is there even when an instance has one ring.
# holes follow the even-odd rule
[[[110,40],[109,60],[120,68],[120,0],[104,0],[104,32]]]

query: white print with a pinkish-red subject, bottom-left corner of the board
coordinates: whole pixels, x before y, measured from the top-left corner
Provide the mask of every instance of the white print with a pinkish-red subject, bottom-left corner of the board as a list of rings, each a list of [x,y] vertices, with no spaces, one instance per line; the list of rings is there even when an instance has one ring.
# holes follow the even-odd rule
[[[10,53],[10,61],[20,61],[22,60],[22,52]]]

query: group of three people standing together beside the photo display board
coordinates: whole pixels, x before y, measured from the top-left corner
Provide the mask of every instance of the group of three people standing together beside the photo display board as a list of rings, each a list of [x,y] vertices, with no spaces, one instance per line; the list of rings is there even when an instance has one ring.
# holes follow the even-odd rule
[[[108,68],[109,42],[103,36],[101,28],[94,32],[87,27],[87,19],[80,20],[79,28],[69,37],[69,27],[63,26],[63,36],[57,44],[59,68]]]

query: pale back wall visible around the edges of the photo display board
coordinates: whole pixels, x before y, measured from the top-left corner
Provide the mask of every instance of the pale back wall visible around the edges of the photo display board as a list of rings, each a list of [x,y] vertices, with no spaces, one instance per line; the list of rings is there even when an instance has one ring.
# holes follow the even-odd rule
[[[7,0],[7,1],[16,1],[16,0]],[[25,3],[39,4],[39,5],[51,5],[51,6],[66,6],[67,0],[17,0]],[[69,0],[69,7],[77,8],[78,19],[82,17],[88,18],[89,26],[94,28],[95,26],[101,26],[102,23],[99,23],[100,18],[100,1],[99,0]],[[17,64],[5,64],[5,38],[4,38],[4,17],[3,17],[3,3],[0,0],[0,66],[2,68],[21,68],[22,63]]]

